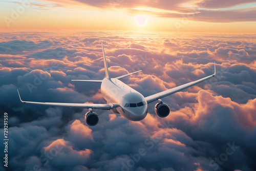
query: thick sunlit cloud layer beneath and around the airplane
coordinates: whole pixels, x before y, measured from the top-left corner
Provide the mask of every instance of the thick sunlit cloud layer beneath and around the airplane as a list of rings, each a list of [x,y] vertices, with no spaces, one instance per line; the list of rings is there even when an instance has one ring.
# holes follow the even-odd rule
[[[106,31],[1,33],[0,111],[9,116],[9,168],[254,170],[255,38]],[[158,118],[152,103],[140,122],[95,110],[99,123],[89,127],[84,121],[87,110],[19,101],[17,89],[24,100],[105,103],[99,83],[71,81],[104,77],[101,42],[111,76],[142,70],[122,81],[144,96],[210,75],[214,62],[217,75],[163,98],[170,105],[167,118]]]

